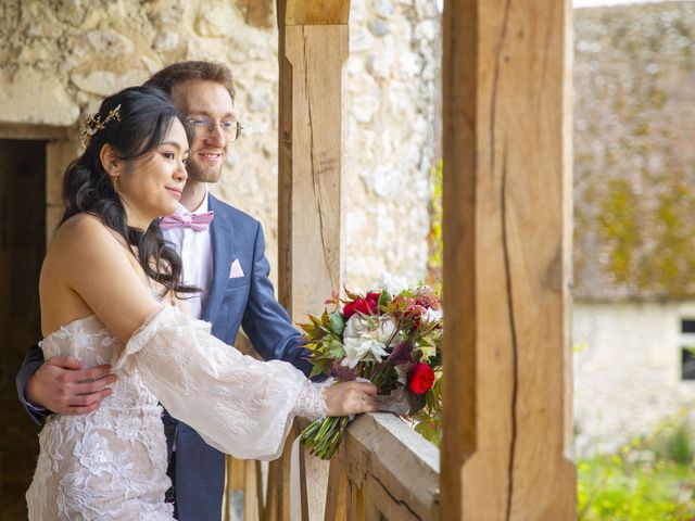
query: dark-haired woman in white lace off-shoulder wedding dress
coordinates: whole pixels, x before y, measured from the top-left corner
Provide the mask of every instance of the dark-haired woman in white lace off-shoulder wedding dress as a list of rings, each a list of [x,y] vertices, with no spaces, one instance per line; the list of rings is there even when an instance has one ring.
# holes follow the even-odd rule
[[[181,262],[152,220],[186,182],[190,129],[166,96],[106,98],[67,168],[66,209],[39,283],[45,356],[111,364],[118,380],[87,416],[52,415],[27,492],[30,520],[172,520],[162,406],[237,458],[279,456],[294,416],[376,410],[376,387],[315,384],[257,361],[188,317]],[[98,385],[99,382],[96,382]]]

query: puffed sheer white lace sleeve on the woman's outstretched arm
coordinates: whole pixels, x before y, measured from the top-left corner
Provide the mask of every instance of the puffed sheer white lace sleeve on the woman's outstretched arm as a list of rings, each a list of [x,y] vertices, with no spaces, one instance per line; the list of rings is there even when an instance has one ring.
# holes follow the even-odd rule
[[[170,306],[146,320],[112,365],[137,370],[172,416],[239,459],[277,458],[294,416],[326,415],[326,384],[285,361],[242,355]]]

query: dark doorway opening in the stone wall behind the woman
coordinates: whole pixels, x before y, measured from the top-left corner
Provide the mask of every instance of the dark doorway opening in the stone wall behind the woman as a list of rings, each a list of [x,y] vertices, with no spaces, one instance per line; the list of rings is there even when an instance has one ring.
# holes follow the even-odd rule
[[[41,338],[46,144],[0,140],[0,518],[7,520],[26,519],[24,494],[38,455],[39,429],[20,405],[14,379]]]

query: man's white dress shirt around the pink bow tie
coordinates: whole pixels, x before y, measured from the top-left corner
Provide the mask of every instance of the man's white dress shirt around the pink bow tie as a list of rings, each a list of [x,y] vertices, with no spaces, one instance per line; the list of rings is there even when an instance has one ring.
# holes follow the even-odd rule
[[[201,205],[193,212],[189,212],[181,204],[176,208],[179,215],[198,215],[205,212],[207,212],[207,191]],[[210,228],[205,231],[195,231],[188,227],[169,228],[162,230],[162,233],[164,239],[174,244],[184,262],[184,283],[202,290],[201,293],[182,295],[191,317],[201,318],[203,304],[213,280],[213,242]]]

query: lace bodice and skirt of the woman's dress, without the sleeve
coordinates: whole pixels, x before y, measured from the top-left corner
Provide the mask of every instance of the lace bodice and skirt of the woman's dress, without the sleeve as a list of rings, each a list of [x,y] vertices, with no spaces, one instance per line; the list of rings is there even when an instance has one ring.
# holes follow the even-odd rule
[[[123,344],[92,315],[48,335],[41,348],[47,358],[71,355],[89,367]],[[47,419],[26,494],[29,520],[174,519],[164,503],[170,481],[162,407],[137,371],[114,372],[118,380],[99,409]]]

